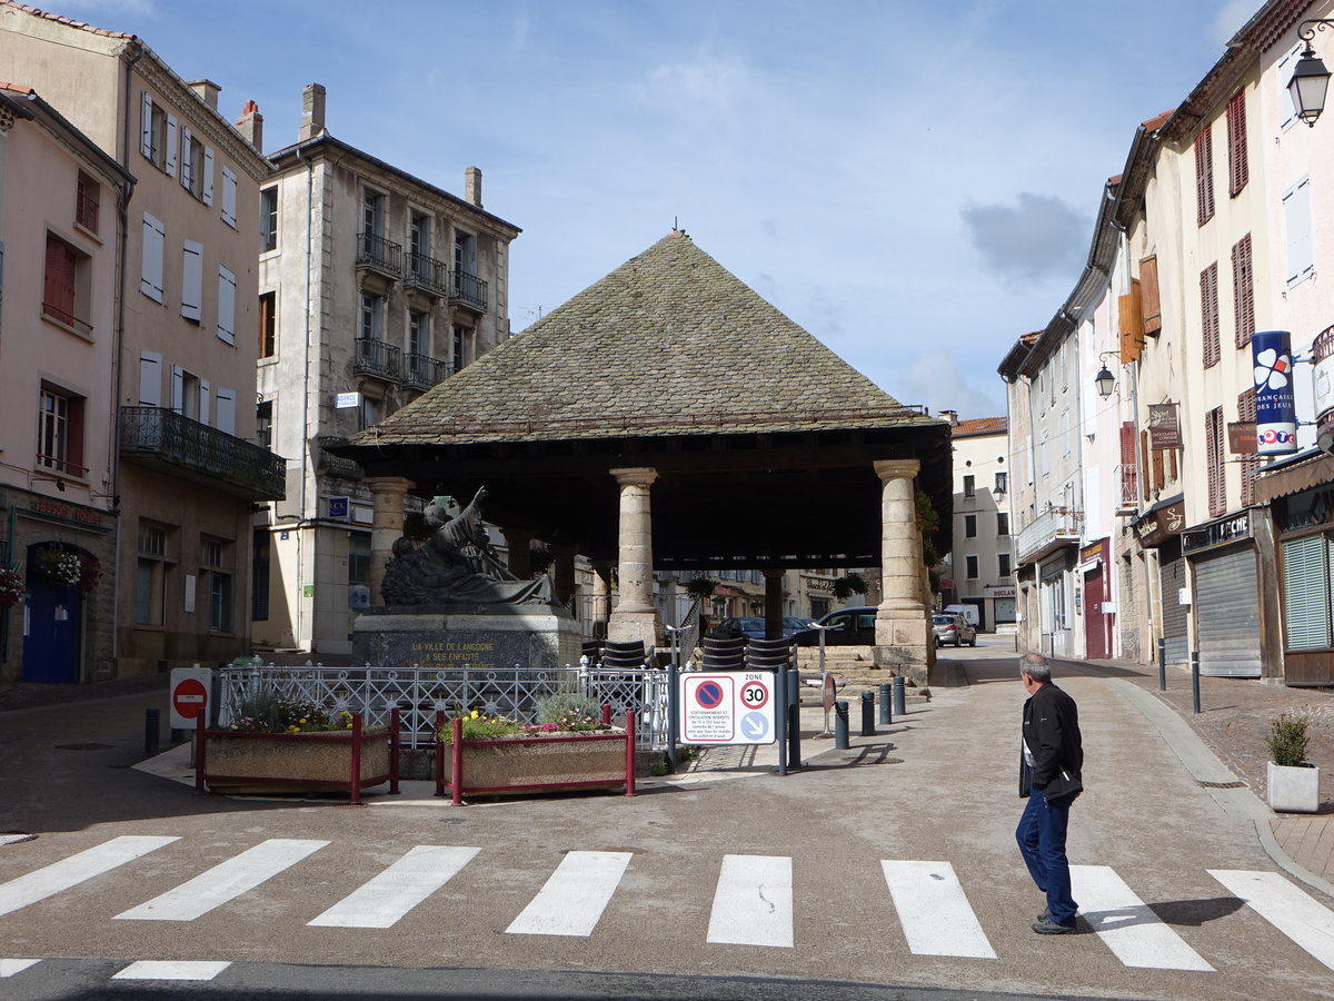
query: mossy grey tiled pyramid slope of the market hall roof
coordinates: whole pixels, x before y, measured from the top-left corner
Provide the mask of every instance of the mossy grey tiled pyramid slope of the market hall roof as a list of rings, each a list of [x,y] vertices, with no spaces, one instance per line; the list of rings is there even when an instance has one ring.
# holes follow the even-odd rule
[[[354,443],[935,423],[672,231]]]

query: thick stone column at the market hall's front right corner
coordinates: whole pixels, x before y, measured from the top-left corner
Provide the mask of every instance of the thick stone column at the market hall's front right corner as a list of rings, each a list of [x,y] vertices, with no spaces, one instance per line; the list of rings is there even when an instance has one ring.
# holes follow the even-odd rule
[[[875,665],[926,685],[935,642],[922,598],[922,533],[916,522],[916,459],[875,463],[880,478],[880,605],[875,614]]]

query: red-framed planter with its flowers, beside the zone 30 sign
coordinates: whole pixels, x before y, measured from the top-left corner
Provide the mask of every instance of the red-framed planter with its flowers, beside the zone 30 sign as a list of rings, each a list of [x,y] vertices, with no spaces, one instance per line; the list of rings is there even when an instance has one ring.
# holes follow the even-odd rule
[[[443,717],[443,713],[440,714]],[[538,703],[536,723],[484,715],[480,709],[442,721],[435,749],[435,794],[464,795],[608,789],[635,794],[634,713],[626,729],[575,693]]]

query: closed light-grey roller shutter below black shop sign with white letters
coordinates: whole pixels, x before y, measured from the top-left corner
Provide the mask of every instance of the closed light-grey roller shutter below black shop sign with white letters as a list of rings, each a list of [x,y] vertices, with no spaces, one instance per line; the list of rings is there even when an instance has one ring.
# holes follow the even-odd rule
[[[1250,546],[1194,561],[1199,617],[1199,673],[1213,678],[1258,678],[1259,574]]]

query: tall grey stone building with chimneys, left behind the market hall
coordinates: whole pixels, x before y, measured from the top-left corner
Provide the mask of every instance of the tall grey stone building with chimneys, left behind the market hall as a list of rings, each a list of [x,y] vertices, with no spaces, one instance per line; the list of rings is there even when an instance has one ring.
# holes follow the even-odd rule
[[[324,104],[309,84],[259,192],[257,432],[289,460],[287,499],[253,525],[253,630],[257,646],[344,654],[371,593],[372,495],[329,446],[510,336],[519,228],[482,208],[478,168],[458,198],[335,139]],[[243,128],[259,145],[261,123]]]

